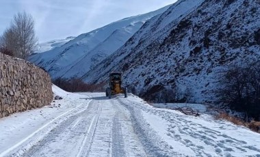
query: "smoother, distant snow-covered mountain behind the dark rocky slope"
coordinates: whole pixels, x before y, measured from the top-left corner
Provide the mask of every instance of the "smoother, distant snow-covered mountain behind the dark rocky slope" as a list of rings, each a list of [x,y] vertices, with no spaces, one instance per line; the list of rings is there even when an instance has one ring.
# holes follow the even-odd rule
[[[161,14],[169,7],[124,18],[89,33],[83,33],[62,46],[34,54],[29,60],[47,70],[52,78],[82,76],[125,44],[146,20]]]

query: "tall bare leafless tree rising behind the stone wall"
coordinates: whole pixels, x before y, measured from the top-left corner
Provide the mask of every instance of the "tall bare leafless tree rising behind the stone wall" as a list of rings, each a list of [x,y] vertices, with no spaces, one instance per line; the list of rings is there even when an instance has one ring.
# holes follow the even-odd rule
[[[1,47],[14,53],[15,57],[27,59],[37,45],[34,19],[26,12],[14,15],[11,25],[1,36]]]

